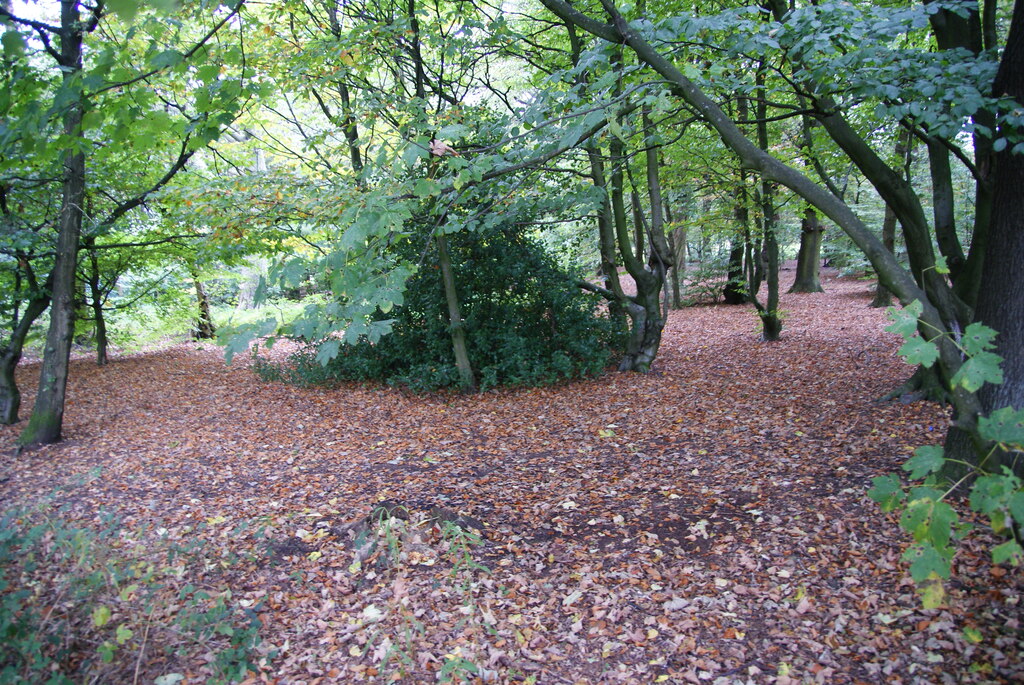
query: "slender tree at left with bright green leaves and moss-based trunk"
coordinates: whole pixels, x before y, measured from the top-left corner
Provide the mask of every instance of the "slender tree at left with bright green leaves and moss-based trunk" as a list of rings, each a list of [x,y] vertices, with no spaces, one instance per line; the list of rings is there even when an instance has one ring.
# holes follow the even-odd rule
[[[46,229],[41,232],[52,234],[54,255],[48,276],[50,327],[22,444],[60,438],[83,232],[98,238],[140,208],[219,135],[253,90],[230,73],[221,75],[222,67],[239,63],[244,53],[210,45],[240,7],[209,17],[212,26],[195,38],[189,27],[153,13],[135,17],[134,6],[127,5],[126,19],[135,22],[129,40],[116,38],[122,33],[119,19],[101,3],[86,8],[83,16],[78,0],[61,0],[56,26],[0,9],[0,18],[12,27],[4,36],[5,56],[26,54],[31,34],[51,65],[47,69],[42,57],[20,57],[11,85],[18,96],[35,98],[35,106],[6,100],[8,108],[22,109],[13,112],[3,139],[0,185],[17,184],[20,192],[34,195],[60,185],[58,212],[40,223]],[[203,16],[202,8],[193,9],[197,18]],[[196,82],[189,84],[191,79]],[[39,106],[41,97],[48,97],[51,106]],[[28,173],[14,171],[19,159],[31,160]],[[102,187],[104,180],[111,181],[109,187]],[[89,190],[87,181],[99,186],[97,191]]]

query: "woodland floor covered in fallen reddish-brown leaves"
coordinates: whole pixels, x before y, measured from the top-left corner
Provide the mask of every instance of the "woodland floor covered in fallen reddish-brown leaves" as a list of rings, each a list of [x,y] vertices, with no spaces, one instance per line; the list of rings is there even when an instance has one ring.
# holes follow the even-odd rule
[[[823,285],[782,297],[776,343],[749,307],[695,307],[648,375],[473,396],[264,383],[209,345],[78,359],[62,443],[0,432],[0,501],[164,555],[148,608],[114,579],[85,626],[133,628],[110,682],[226,673],[229,630],[175,649],[197,606],[258,620],[253,682],[1021,682],[1024,580],[984,532],[921,608],[865,491],[945,413],[877,401],[899,341],[870,282]]]

